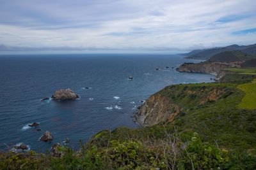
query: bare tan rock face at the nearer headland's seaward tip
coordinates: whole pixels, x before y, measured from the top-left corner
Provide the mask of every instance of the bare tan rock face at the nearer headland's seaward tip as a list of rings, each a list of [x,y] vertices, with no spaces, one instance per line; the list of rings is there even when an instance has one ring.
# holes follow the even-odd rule
[[[144,126],[151,126],[159,122],[172,122],[180,112],[177,104],[172,103],[167,97],[156,94],[147,99],[136,115],[136,120]]]

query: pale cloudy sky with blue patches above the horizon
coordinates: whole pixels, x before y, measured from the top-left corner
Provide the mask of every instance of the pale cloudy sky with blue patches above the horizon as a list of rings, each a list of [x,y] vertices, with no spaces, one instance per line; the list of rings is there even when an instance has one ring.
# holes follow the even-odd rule
[[[0,0],[0,54],[186,52],[254,43],[255,0]]]

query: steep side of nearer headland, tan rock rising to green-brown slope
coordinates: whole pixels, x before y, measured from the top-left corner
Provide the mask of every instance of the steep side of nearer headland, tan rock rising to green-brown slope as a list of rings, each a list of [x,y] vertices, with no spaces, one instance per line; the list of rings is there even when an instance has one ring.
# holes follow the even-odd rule
[[[171,85],[150,96],[135,116],[136,122],[152,126],[161,122],[173,122],[188,110],[225,98],[234,89],[218,85]]]

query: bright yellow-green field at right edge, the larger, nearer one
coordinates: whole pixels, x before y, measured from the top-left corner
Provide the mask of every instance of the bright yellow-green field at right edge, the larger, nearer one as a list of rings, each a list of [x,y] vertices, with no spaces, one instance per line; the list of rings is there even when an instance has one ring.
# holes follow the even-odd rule
[[[239,108],[256,109],[256,79],[252,83],[245,83],[237,88],[245,93],[241,103],[238,104]]]

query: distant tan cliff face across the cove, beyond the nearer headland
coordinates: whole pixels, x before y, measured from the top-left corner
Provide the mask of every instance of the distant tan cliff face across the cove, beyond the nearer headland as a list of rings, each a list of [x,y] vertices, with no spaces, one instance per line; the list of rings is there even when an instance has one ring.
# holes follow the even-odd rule
[[[194,63],[184,63],[177,68],[177,71],[187,72],[187,73],[210,73],[219,74],[223,69],[232,67],[231,64],[220,63],[220,62],[201,62],[198,64]]]

